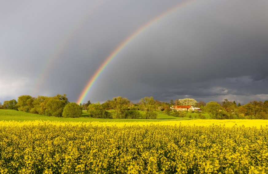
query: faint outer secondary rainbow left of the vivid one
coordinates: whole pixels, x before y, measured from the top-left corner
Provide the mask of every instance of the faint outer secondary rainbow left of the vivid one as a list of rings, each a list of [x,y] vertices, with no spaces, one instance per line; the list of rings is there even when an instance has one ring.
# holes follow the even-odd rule
[[[87,18],[95,12],[99,6],[101,6],[104,3],[104,0],[95,0],[91,3],[91,6],[88,8],[88,10],[83,14],[79,20],[76,21],[76,23],[73,25],[72,28],[68,30],[68,32],[64,35],[64,37],[59,41],[56,48],[53,50],[52,54],[49,56],[46,64],[41,69],[41,72],[37,76],[37,82],[35,85],[33,85],[32,89],[32,95],[36,95],[37,92],[40,90],[40,87],[45,80],[45,77],[47,76],[50,67],[52,64],[57,60],[57,58],[60,56],[60,53],[64,50],[64,48],[68,45],[68,42],[72,38],[72,36],[77,32],[78,29],[83,26]]]

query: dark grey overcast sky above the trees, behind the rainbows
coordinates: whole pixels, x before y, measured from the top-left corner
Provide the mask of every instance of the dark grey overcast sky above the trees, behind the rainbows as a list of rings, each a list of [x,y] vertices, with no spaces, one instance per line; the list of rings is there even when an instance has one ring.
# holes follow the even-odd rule
[[[174,6],[176,10],[170,11]],[[267,0],[0,1],[0,102],[66,94],[169,102],[268,100]]]

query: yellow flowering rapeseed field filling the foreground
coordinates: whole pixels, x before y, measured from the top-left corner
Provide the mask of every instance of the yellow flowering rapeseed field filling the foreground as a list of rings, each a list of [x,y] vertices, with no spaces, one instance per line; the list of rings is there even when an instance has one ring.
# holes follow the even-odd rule
[[[0,173],[268,173],[263,120],[0,122]]]

